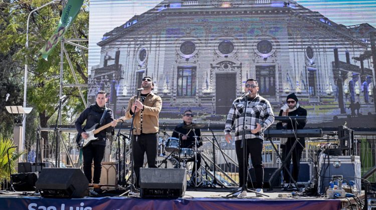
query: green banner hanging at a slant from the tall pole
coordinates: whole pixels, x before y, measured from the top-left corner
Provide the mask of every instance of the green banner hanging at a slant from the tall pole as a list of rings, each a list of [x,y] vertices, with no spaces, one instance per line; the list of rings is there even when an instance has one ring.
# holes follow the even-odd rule
[[[68,0],[68,3],[65,4],[58,28],[56,28],[54,34],[52,34],[51,38],[48,39],[43,48],[39,50],[45,60],[47,60],[48,55],[68,30],[69,25],[71,25],[74,19],[77,17],[83,2],[84,0]]]

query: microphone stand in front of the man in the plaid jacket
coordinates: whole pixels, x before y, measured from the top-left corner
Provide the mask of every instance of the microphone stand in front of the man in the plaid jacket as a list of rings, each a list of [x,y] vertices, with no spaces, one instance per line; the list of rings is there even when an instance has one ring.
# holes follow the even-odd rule
[[[243,117],[243,127],[242,127],[242,143],[241,143],[241,148],[243,148],[243,186],[241,189],[239,190],[236,190],[235,192],[232,192],[228,195],[226,195],[227,197],[232,195],[232,194],[235,194],[239,191],[241,191],[241,193],[238,195],[238,197],[242,197],[244,196],[243,193],[247,194],[247,192],[255,192],[256,194],[262,194],[262,195],[265,195],[265,196],[268,196],[269,195],[266,195],[266,194],[263,194],[263,193],[260,193],[260,192],[257,192],[257,191],[254,191],[254,190],[251,190],[251,189],[248,189],[247,188],[247,177],[248,177],[248,173],[246,173],[246,168],[248,170],[248,164],[246,162],[246,150],[247,150],[247,139],[246,139],[246,116],[247,116],[247,106],[248,106],[248,94],[246,93],[245,95],[245,101],[244,101],[244,117]],[[246,175],[247,174],[247,175]]]

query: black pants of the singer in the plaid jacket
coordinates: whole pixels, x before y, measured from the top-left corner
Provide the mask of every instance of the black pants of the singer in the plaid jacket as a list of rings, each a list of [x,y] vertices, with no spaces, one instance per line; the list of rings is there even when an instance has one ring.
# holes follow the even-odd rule
[[[248,138],[246,147],[246,184],[248,180],[248,160],[251,154],[252,165],[255,168],[256,188],[262,188],[264,185],[264,165],[262,164],[262,146],[263,140],[260,138]],[[235,141],[236,156],[239,163],[239,186],[244,184],[243,176],[243,148],[241,148],[241,140]]]

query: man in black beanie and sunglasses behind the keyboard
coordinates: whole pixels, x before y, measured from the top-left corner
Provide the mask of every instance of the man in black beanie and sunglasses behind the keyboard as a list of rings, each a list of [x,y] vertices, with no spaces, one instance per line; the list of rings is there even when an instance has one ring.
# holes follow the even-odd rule
[[[281,107],[279,116],[307,116],[307,110],[299,105],[298,98],[295,93],[287,95],[286,103]],[[306,120],[291,120],[291,122],[278,122],[277,129],[303,129],[305,126]],[[295,125],[296,124],[296,125]],[[292,148],[294,141],[298,140],[295,147]],[[287,169],[290,169],[290,162],[292,157],[292,177],[295,181],[298,180],[299,175],[299,165],[300,157],[302,155],[303,148],[305,146],[305,139],[295,137],[281,138],[281,148],[282,148],[282,160],[286,165]],[[292,149],[291,155],[287,156],[289,151]],[[296,190],[297,186],[293,183],[290,184],[290,176],[286,172],[286,169],[283,169],[283,187],[284,190]]]

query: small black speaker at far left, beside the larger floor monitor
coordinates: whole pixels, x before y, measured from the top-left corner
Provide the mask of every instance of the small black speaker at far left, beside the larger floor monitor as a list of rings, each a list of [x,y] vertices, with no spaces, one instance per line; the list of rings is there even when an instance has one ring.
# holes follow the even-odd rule
[[[13,187],[16,191],[35,191],[38,172],[12,174]]]

